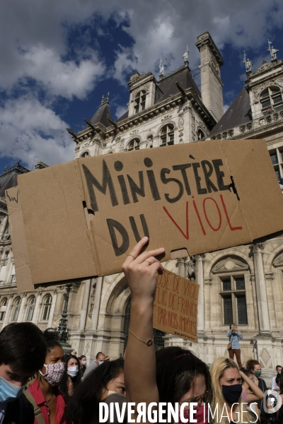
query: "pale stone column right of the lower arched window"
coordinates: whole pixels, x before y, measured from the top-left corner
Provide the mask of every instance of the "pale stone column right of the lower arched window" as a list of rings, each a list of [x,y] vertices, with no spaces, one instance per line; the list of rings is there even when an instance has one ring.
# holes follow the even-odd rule
[[[258,326],[260,334],[270,335],[270,315],[268,312],[265,287],[265,271],[262,262],[262,243],[253,245],[253,262],[255,266],[255,290],[258,300]]]

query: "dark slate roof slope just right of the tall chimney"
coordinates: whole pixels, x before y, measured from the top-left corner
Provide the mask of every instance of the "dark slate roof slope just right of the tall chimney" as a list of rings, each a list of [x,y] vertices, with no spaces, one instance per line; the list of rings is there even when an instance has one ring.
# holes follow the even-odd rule
[[[252,112],[250,108],[250,95],[244,87],[241,93],[238,94],[233,103],[224,113],[223,117],[214,126],[209,136],[220,133],[226,129],[231,129],[234,126],[239,126],[251,121]]]

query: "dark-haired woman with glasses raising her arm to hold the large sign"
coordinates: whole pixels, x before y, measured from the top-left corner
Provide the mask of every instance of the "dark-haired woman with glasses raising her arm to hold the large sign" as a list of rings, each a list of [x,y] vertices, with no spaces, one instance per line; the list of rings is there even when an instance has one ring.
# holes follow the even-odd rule
[[[136,405],[145,402],[147,406],[151,402],[178,403],[179,413],[185,407],[185,419],[188,418],[188,406],[183,404],[196,402],[194,419],[197,423],[207,423],[207,408],[204,420],[204,404],[208,404],[212,396],[207,365],[183,348],[168,347],[156,353],[154,350],[156,277],[157,273],[163,273],[156,256],[163,254],[164,249],[143,252],[148,241],[148,237],[141,239],[122,266],[132,296],[125,354],[127,399]],[[178,423],[182,415],[183,412],[179,417],[174,416],[174,421]]]

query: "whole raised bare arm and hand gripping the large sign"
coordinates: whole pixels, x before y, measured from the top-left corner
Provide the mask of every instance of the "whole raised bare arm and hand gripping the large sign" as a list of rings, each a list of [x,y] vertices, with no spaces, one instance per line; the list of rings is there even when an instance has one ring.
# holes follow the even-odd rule
[[[127,401],[136,404],[158,402],[153,316],[157,274],[163,273],[156,256],[163,254],[164,249],[140,253],[148,240],[147,237],[141,239],[122,266],[132,297],[125,386]]]

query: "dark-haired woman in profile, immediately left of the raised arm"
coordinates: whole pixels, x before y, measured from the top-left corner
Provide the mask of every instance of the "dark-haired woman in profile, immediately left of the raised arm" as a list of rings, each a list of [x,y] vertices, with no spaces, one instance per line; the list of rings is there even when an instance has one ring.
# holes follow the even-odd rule
[[[115,401],[122,403],[126,401],[123,359],[111,360],[94,368],[74,389],[68,404],[68,414],[72,422],[98,423],[98,404],[100,401],[106,401],[110,394],[123,395]]]

